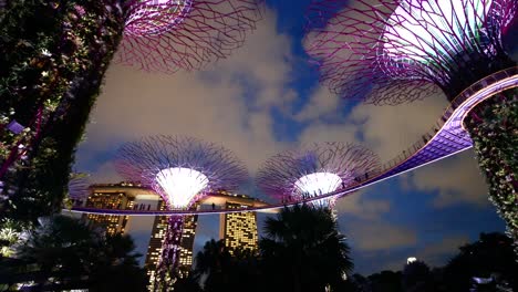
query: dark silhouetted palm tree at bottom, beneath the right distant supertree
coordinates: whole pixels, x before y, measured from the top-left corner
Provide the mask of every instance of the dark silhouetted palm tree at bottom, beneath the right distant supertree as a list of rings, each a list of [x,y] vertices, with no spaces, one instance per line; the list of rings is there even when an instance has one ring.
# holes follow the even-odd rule
[[[331,210],[302,205],[268,218],[259,241],[268,281],[279,291],[336,290],[353,268]]]

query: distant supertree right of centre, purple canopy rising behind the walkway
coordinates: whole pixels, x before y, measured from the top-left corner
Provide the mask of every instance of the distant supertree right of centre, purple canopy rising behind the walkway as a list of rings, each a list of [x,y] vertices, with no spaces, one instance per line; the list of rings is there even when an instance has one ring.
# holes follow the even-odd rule
[[[256,181],[267,195],[296,202],[346,188],[380,170],[380,157],[361,145],[314,143],[274,155],[260,168]],[[311,204],[332,208],[334,201],[333,197]]]

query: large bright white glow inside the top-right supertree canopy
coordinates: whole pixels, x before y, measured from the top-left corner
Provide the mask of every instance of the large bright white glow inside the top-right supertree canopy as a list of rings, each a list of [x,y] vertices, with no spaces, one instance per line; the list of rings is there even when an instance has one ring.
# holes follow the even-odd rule
[[[395,60],[418,62],[429,62],[427,55],[457,54],[465,50],[463,43],[479,36],[491,3],[491,0],[402,1],[382,35],[384,51]]]

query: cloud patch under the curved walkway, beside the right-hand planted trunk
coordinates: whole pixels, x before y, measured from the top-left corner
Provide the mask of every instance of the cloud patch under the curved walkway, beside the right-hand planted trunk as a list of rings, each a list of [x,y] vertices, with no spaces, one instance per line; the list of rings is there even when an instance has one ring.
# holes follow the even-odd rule
[[[416,169],[402,177],[406,180],[403,185],[412,190],[436,192],[433,200],[436,208],[458,204],[485,207],[488,205],[487,185],[474,156],[473,150],[467,150],[433,166]]]

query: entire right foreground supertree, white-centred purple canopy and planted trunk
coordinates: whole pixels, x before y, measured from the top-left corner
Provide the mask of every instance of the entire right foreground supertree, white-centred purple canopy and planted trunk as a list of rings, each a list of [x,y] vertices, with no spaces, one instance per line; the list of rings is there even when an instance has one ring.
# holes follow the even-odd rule
[[[346,98],[400,104],[442,90],[454,101],[475,82],[516,66],[503,43],[516,0],[340,2],[315,0],[311,6],[313,29],[307,48],[322,80]],[[490,200],[518,243],[516,88],[477,104],[464,127],[489,184]]]

